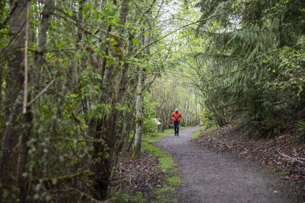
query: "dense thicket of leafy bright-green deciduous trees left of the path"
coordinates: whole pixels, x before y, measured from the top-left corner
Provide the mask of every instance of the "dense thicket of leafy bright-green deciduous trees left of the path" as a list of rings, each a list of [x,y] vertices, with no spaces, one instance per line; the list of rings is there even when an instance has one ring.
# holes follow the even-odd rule
[[[128,149],[135,122],[143,121],[143,137],[156,133],[152,119],[156,117],[155,103],[146,98],[144,116],[135,118],[133,115],[139,68],[144,68],[147,74],[146,91],[146,85],[167,65],[172,69],[178,65],[178,61],[164,59],[168,48],[162,36],[159,41],[148,42],[152,42],[151,54],[146,53],[148,45],[143,41],[144,36],[156,37],[163,32],[165,25],[155,16],[159,16],[157,12],[166,12],[159,9],[157,2],[149,1],[128,2],[125,10],[122,10],[125,4],[116,1],[106,4],[99,1],[47,2],[30,2],[27,102],[37,98],[27,107],[29,117],[21,114],[22,102],[5,91],[6,79],[11,83],[23,82],[25,43],[18,44],[17,49],[11,48],[16,37],[12,37],[14,26],[10,25],[10,19],[17,17],[19,20],[26,15],[16,13],[21,9],[14,8],[13,2],[0,4],[0,132],[3,133],[2,125],[6,124],[14,105],[14,102],[4,105],[3,101],[11,96],[18,104],[18,122],[12,128],[16,129],[15,140],[20,140],[12,149],[18,153],[20,146],[25,146],[23,154],[28,155],[27,160],[22,160],[26,183],[20,184],[20,187],[26,186],[22,190],[26,194],[21,195],[17,188],[8,191],[8,196],[27,198],[28,202],[56,202],[63,196],[70,202],[96,201],[89,197],[101,200],[103,195],[106,198],[107,191],[96,190],[97,182],[102,177],[105,186],[102,187],[107,190],[110,177],[107,171],[111,171],[107,167],[114,164],[109,161],[115,160],[116,153]],[[45,9],[52,3],[55,3],[51,6],[55,11],[48,13]],[[50,16],[50,24],[42,28],[46,22],[42,19],[46,16]],[[45,37],[41,38],[41,34]],[[39,47],[44,40],[45,45]],[[35,60],[39,57],[42,62],[36,67]],[[9,63],[17,59],[20,64]],[[14,65],[19,69],[12,71]],[[112,71],[107,72],[111,68]],[[14,71],[20,73],[18,78],[9,78]],[[39,77],[38,84],[34,85],[35,76]],[[23,92],[21,87],[16,87],[20,93]],[[78,173],[88,169],[94,172],[90,172],[89,177]],[[70,174],[78,176],[71,181]],[[49,181],[50,178],[54,181]],[[49,182],[43,182],[45,180]],[[1,187],[1,191],[6,191],[5,187]],[[141,194],[136,198],[142,201]]]

